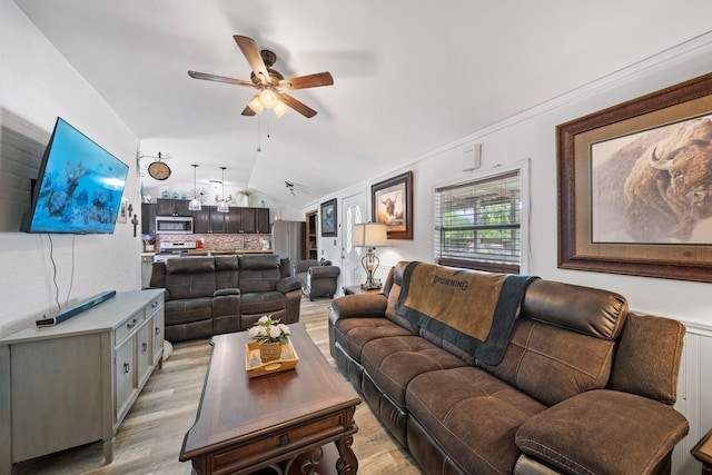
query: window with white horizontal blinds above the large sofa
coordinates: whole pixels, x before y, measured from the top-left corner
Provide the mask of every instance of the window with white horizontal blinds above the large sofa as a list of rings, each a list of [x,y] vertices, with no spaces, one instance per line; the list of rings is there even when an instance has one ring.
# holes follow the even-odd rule
[[[520,273],[520,169],[436,188],[434,211],[437,264],[496,273]]]

